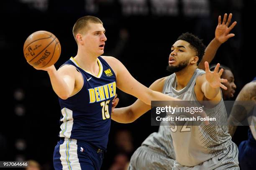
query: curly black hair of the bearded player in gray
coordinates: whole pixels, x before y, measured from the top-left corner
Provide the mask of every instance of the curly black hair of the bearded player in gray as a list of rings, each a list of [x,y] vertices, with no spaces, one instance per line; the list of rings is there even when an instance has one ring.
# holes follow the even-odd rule
[[[190,44],[190,47],[197,51],[198,62],[202,60],[202,57],[205,55],[205,45],[202,43],[197,36],[193,35],[192,33],[183,33],[181,36],[177,38],[178,40],[187,41]]]

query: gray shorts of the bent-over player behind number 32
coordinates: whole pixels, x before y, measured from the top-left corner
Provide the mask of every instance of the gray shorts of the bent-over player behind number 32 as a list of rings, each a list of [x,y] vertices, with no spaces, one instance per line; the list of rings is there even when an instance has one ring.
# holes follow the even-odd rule
[[[172,170],[174,159],[147,146],[138,147],[133,153],[128,170]]]

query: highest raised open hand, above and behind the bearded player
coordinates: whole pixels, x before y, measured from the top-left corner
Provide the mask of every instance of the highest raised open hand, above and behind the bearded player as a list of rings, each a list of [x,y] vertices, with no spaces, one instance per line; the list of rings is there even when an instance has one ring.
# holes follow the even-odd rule
[[[228,20],[227,20],[227,16],[228,16]],[[218,18],[218,25],[215,30],[215,38],[220,43],[224,43],[229,38],[235,36],[235,34],[230,33],[230,30],[232,30],[234,28],[234,26],[236,25],[236,21],[233,22],[230,25],[230,27],[228,27],[228,25],[231,22],[231,19],[232,19],[232,13],[230,13],[229,15],[225,13],[222,23],[221,23],[221,16],[219,16],[219,18]]]

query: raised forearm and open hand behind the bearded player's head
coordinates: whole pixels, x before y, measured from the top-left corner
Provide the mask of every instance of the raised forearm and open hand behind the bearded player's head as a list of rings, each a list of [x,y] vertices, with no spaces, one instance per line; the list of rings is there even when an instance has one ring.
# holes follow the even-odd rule
[[[218,25],[215,29],[215,38],[213,38],[213,40],[206,47],[205,55],[203,56],[202,61],[198,64],[199,69],[205,70],[205,65],[204,65],[205,61],[210,63],[214,58],[220,45],[222,43],[225,43],[229,38],[235,36],[235,34],[230,33],[230,31],[235,27],[236,21],[229,26],[232,19],[232,13],[229,14],[228,20],[227,20],[227,16],[228,14],[224,15],[222,23],[221,23],[221,16],[219,16]]]

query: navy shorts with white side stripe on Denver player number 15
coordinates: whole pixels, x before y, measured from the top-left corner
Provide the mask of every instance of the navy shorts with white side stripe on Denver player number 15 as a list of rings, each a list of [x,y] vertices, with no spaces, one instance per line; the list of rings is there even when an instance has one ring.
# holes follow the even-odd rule
[[[61,139],[54,148],[55,170],[100,170],[104,152],[86,142]]]

